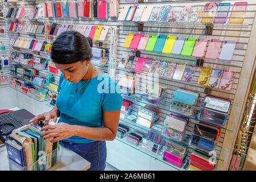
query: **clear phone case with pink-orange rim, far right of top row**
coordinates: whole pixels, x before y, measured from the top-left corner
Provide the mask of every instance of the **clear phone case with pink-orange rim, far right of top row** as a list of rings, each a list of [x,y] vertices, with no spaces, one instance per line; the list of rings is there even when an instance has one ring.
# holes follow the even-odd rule
[[[236,2],[230,15],[229,23],[243,23],[247,9],[247,2]]]

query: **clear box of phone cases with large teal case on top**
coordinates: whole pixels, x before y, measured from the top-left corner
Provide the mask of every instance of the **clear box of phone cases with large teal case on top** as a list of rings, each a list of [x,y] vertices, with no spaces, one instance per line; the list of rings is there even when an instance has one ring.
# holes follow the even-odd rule
[[[184,89],[175,90],[170,110],[184,115],[192,115],[200,94]]]

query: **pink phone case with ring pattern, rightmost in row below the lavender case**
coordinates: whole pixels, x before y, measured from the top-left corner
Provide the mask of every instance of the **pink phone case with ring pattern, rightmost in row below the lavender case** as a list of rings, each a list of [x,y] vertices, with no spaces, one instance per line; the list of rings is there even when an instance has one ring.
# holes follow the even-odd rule
[[[231,90],[235,76],[236,76],[236,72],[230,71],[230,70],[224,70],[221,77],[219,88],[222,90]]]

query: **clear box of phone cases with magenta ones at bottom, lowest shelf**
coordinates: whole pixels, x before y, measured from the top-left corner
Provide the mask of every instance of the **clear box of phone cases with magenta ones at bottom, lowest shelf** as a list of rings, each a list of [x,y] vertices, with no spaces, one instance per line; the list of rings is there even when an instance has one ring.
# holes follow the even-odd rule
[[[163,160],[177,167],[181,167],[187,158],[187,147],[184,144],[167,140],[164,149]]]

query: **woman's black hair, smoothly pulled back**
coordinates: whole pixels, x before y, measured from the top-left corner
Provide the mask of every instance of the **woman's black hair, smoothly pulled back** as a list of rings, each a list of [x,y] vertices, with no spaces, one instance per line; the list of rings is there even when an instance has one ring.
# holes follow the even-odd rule
[[[92,39],[76,31],[61,33],[52,44],[51,59],[58,64],[72,64],[92,58]]]

